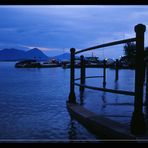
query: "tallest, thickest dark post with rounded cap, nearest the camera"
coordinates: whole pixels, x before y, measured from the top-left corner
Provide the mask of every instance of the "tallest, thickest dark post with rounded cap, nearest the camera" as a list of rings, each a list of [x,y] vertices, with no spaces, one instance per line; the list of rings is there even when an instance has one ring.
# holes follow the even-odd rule
[[[136,32],[136,65],[135,65],[135,100],[134,112],[131,120],[133,134],[145,133],[145,120],[143,114],[143,84],[144,84],[144,32],[145,25],[135,26]]]

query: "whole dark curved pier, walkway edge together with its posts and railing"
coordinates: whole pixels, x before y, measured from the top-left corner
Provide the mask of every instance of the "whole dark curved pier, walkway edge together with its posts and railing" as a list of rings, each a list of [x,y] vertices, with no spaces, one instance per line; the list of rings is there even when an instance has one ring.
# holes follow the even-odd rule
[[[71,116],[74,116],[78,121],[84,124],[88,129],[93,130],[95,134],[103,136],[104,138],[113,138],[113,139],[141,139],[141,137],[146,137],[146,121],[143,114],[143,88],[144,88],[144,80],[145,80],[145,61],[144,61],[144,32],[146,30],[145,25],[138,24],[135,26],[136,36],[134,38],[129,38],[125,40],[114,41],[110,43],[105,43],[101,45],[97,45],[94,47],[89,47],[86,49],[82,49],[76,51],[75,48],[71,48],[71,67],[70,67],[70,93],[67,101],[67,108]],[[86,77],[85,70],[85,60],[84,56],[81,55],[81,68],[80,68],[80,78],[75,78],[75,55],[83,52],[124,44],[128,42],[136,42],[136,66],[135,66],[135,88],[134,92],[127,90],[116,90],[106,88],[106,61],[104,61],[103,66],[103,74],[100,76],[91,76]],[[119,70],[118,70],[118,60],[116,60],[115,67],[115,81],[118,81]],[[87,78],[102,78],[102,87],[94,87],[85,84],[85,79]],[[75,81],[80,80],[80,83],[76,83]],[[147,84],[147,83],[146,83]],[[127,96],[134,97],[134,110],[131,117],[130,129],[126,127],[126,125],[122,125],[120,123],[114,122],[110,119],[107,119],[103,116],[96,115],[95,113],[87,110],[83,106],[77,103],[76,95],[75,95],[75,86],[80,87],[80,93],[84,93],[85,88],[93,89],[97,91],[115,93],[115,94],[123,94]],[[147,87],[146,87],[147,94]],[[146,95],[147,97],[147,95]]]

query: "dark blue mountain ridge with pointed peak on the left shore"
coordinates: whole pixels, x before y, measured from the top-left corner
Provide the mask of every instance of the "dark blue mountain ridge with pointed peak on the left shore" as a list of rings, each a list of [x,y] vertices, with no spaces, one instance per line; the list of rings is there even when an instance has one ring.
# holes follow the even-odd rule
[[[36,59],[40,61],[48,60],[48,57],[39,49],[34,48],[29,51],[14,48],[0,50],[0,61],[20,61]]]

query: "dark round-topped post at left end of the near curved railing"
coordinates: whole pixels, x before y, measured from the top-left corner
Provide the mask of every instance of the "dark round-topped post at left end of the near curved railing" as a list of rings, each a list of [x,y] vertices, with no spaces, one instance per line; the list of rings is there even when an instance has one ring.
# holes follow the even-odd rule
[[[70,93],[69,93],[69,103],[76,103],[76,96],[75,96],[75,86],[74,86],[74,79],[75,79],[75,49],[71,48],[71,62],[70,62]]]

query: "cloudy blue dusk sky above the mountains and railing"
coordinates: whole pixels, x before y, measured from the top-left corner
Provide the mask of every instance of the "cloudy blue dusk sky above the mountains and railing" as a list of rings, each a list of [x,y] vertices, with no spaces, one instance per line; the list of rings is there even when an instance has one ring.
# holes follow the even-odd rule
[[[134,26],[148,28],[146,5],[1,5],[0,50],[39,48],[55,56],[135,37]],[[148,31],[145,46],[148,46]],[[86,56],[119,58],[123,44],[87,52]]]

